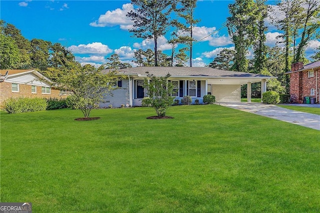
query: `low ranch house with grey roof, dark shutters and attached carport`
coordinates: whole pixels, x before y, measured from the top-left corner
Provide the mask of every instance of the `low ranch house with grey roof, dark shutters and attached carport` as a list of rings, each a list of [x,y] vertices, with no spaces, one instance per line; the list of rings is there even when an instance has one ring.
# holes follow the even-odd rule
[[[107,73],[109,69],[102,72]],[[122,80],[117,82],[118,89],[112,91],[113,95],[106,95],[104,103],[100,107],[107,107],[111,104],[119,107],[121,104],[126,106],[139,106],[141,99],[147,96],[143,88],[143,80],[146,72],[155,76],[165,76],[170,73],[168,80],[173,83],[176,90],[176,99],[181,99],[184,95],[192,97],[192,102],[198,99],[202,103],[203,95],[212,94],[216,102],[240,102],[241,85],[247,84],[247,99],[251,101],[251,83],[261,82],[261,94],[266,91],[266,81],[274,76],[261,74],[227,71],[213,69],[209,67],[148,67],[138,66],[119,70],[118,76]]]

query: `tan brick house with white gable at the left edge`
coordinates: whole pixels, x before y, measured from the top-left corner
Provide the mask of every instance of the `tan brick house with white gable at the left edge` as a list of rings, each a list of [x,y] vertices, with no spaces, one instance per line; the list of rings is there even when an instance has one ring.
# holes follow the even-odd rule
[[[66,97],[60,90],[52,88],[51,81],[34,69],[0,69],[0,73],[0,106],[10,97]]]

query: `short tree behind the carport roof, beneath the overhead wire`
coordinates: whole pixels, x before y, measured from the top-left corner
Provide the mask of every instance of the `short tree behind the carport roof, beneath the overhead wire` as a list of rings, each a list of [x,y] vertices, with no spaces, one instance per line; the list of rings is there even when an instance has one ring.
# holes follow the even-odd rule
[[[214,60],[208,64],[208,67],[232,70],[234,55],[235,50],[224,48],[217,54]]]

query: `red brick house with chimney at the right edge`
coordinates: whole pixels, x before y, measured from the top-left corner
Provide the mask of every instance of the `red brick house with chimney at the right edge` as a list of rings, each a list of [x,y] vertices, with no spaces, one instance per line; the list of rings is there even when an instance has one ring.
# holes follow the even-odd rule
[[[320,61],[303,65],[302,62],[293,63],[290,75],[290,98],[292,102],[302,103],[303,98],[314,97],[319,102],[320,94]]]

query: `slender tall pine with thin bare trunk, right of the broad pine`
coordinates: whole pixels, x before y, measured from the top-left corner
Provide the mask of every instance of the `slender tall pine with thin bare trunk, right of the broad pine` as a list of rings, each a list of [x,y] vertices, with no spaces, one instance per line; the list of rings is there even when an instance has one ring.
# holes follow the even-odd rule
[[[192,42],[195,41],[193,38],[193,28],[195,24],[197,24],[200,19],[194,19],[194,9],[196,7],[197,0],[177,0],[178,5],[174,8],[178,17],[184,19],[183,22],[179,22],[177,19],[172,21],[172,24],[186,33],[186,35],[178,36],[178,40],[180,43],[184,43],[189,47],[189,59],[190,59],[190,67],[192,67]]]

